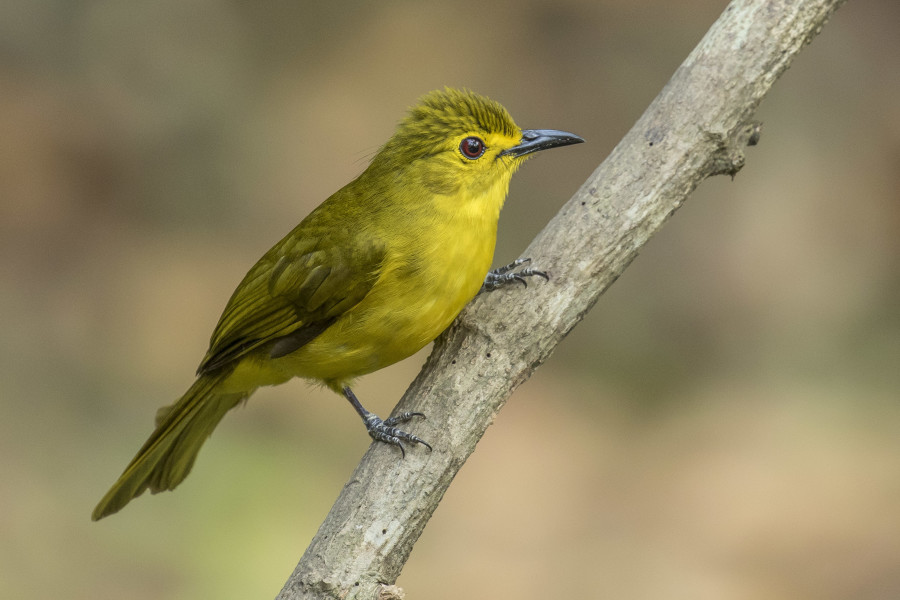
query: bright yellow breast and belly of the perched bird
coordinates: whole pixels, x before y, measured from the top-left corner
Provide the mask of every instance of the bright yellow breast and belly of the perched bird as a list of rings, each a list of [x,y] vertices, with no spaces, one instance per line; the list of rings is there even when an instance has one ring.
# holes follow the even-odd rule
[[[505,185],[492,194],[505,196]],[[452,201],[451,201],[452,200]],[[277,385],[293,377],[340,391],[354,378],[415,354],[433,341],[481,287],[490,269],[502,204],[484,196],[437,206],[444,219],[392,240],[378,281],[366,297],[305,346],[272,359],[247,356],[226,389]],[[432,208],[435,208],[434,206]]]

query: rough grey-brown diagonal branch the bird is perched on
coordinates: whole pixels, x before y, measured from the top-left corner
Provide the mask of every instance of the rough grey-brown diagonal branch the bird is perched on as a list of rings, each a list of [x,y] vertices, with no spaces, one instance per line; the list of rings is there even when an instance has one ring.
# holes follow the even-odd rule
[[[475,444],[525,381],[705,178],[735,174],[760,100],[841,0],[735,0],[524,256],[551,274],[479,296],[401,400],[433,452],[373,444],[279,594],[398,597],[389,587]]]

